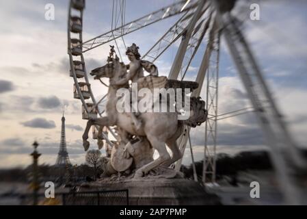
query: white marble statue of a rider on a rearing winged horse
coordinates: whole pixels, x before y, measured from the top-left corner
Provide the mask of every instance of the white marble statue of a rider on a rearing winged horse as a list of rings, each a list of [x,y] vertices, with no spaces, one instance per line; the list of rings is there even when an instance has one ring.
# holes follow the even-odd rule
[[[131,61],[129,65],[120,62],[118,58],[109,57],[108,63],[105,66],[96,68],[90,73],[90,75],[94,76],[94,79],[100,79],[101,77],[109,78],[108,101],[105,109],[107,116],[88,120],[83,134],[83,146],[86,151],[90,145],[87,139],[92,125],[118,127],[121,130],[119,134],[122,145],[125,145],[123,148],[124,152],[121,153],[123,156],[122,159],[128,159],[129,155],[127,153],[131,157],[135,157],[134,160],[137,160],[138,165],[135,166],[136,171],[134,177],[143,177],[153,168],[158,166],[168,167],[180,159],[182,154],[178,149],[176,140],[181,136],[183,126],[190,125],[191,127],[195,127],[196,125],[200,125],[206,120],[207,114],[206,110],[204,110],[204,101],[201,101],[199,98],[191,99],[192,114],[188,120],[178,120],[178,112],[144,112],[139,115],[135,115],[134,113],[131,115],[129,112],[118,112],[116,109],[116,103],[118,101],[116,91],[118,89],[129,88],[129,81],[135,82],[141,79],[142,81],[148,82],[154,78],[158,79],[157,67],[150,62],[139,60],[140,55],[137,49],[138,47],[135,44],[127,49],[126,55],[128,55]],[[150,73],[150,76],[146,77],[146,80],[144,80],[143,68]],[[175,82],[177,83],[172,83],[172,87],[174,85],[193,85],[193,89],[197,88],[195,82]],[[126,138],[127,135],[130,137]],[[150,147],[148,147],[149,151],[147,149],[145,151],[140,150],[138,147],[142,147],[142,144],[137,144],[136,149],[131,148],[131,144],[129,143],[132,139],[131,136],[134,136],[134,139],[139,136],[140,138],[145,138],[146,141],[148,140],[150,143]],[[166,150],[165,144],[172,151],[172,157]],[[159,158],[155,160],[148,159],[148,156],[152,156],[151,148],[158,151]],[[118,157],[118,155],[114,156]],[[143,157],[144,159],[142,159]],[[128,163],[127,165],[129,165]]]

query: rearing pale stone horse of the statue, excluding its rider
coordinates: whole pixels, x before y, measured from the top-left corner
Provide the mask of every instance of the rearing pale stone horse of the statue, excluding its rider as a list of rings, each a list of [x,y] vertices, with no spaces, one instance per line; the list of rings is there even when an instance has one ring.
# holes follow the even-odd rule
[[[116,59],[110,58],[110,60],[111,62],[105,66],[96,68],[90,73],[90,75],[94,76],[94,79],[100,79],[101,77],[109,78],[109,91],[105,110],[107,116],[88,120],[83,134],[83,146],[85,151],[88,150],[90,145],[87,140],[88,132],[92,125],[99,125],[102,127],[116,125],[133,136],[146,137],[152,147],[159,153],[159,158],[136,170],[134,177],[143,177],[152,170],[152,168],[159,165],[166,167],[170,166],[170,164],[176,162],[183,156],[181,151],[178,149],[176,140],[183,132],[184,121],[178,120],[177,112],[145,112],[140,115],[143,125],[141,129],[136,130],[131,120],[131,116],[125,112],[120,113],[116,110],[116,103],[118,101],[116,91],[123,87],[129,88],[128,83],[124,86],[114,85],[122,75],[126,74],[126,66]],[[201,123],[206,120],[206,116],[205,112],[202,116]],[[165,144],[167,144],[172,151],[172,157],[170,157]]]

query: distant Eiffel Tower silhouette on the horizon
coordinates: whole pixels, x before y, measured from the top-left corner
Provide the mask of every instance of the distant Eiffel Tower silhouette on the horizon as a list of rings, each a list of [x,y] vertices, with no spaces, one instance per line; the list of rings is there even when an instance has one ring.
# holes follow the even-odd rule
[[[65,137],[65,117],[64,112],[62,116],[62,129],[61,129],[61,141],[59,142],[59,153],[57,153],[57,166],[69,166],[70,160],[66,149],[66,137]]]

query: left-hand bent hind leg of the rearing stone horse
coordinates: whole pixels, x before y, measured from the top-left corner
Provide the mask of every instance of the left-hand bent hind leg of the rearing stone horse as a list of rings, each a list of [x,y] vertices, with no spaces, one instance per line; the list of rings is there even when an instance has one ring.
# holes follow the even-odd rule
[[[147,138],[150,141],[150,144],[152,145],[152,147],[154,147],[158,151],[159,158],[139,168],[135,172],[134,178],[143,177],[150,170],[163,164],[163,162],[166,162],[167,160],[170,159],[170,155],[168,154],[168,151],[166,150],[166,147],[165,147],[165,142],[158,140],[157,137],[155,136],[147,136]]]

